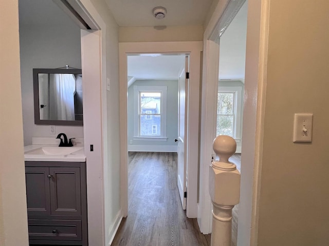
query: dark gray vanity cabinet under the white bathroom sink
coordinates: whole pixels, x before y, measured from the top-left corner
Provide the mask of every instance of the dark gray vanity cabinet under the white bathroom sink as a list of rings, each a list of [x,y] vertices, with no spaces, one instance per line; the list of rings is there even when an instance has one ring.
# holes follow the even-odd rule
[[[85,162],[25,162],[31,244],[87,245]]]

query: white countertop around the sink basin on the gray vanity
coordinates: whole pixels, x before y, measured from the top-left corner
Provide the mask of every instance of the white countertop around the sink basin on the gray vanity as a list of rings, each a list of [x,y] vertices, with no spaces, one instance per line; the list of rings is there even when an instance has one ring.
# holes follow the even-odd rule
[[[58,147],[57,145],[29,145],[24,147],[24,157],[26,161],[69,161],[69,162],[84,162],[86,156],[84,155],[83,145],[75,145],[74,147],[81,147],[81,150],[67,155],[42,155],[29,154],[29,152],[42,147]],[[62,147],[58,147],[62,148]],[[65,148],[65,147],[64,147]],[[67,147],[70,148],[70,147]]]

